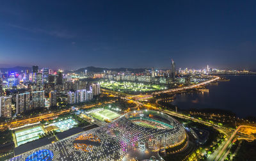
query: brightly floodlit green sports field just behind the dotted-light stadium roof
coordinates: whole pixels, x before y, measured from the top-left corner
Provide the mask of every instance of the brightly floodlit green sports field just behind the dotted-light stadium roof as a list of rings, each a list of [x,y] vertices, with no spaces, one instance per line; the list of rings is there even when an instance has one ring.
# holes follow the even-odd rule
[[[116,112],[110,111],[108,109],[92,112],[90,115],[93,116],[93,118],[99,119],[100,121],[104,121],[105,119],[111,121],[111,119],[115,119],[120,116],[120,114],[117,114]]]

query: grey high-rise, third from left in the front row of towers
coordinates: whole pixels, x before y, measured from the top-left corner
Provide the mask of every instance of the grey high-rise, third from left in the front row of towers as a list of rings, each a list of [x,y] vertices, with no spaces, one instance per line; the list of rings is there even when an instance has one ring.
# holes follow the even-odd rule
[[[31,92],[31,108],[36,109],[44,107],[44,91],[33,91]]]

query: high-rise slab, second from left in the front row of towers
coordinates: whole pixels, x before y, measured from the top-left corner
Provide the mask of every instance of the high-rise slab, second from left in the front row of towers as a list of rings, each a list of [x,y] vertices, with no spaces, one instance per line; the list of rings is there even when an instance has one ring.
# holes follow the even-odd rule
[[[31,110],[29,97],[29,92],[16,95],[16,114]]]

